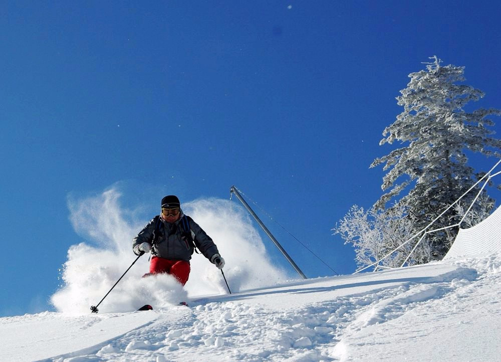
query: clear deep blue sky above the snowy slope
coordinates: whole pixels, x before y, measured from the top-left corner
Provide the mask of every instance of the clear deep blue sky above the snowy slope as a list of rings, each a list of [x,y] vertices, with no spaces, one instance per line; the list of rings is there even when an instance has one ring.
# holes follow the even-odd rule
[[[501,108],[500,13],[494,1],[3,2],[0,316],[49,308],[85,241],[68,198],[117,183],[145,223],[164,195],[228,199],[236,185],[352,273],[331,229],[382,194],[369,165],[392,149],[379,141],[407,75],[437,55],[486,93],[475,107]],[[309,277],[334,274],[274,230]]]

